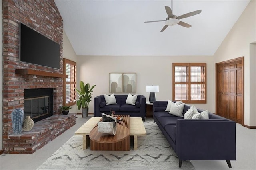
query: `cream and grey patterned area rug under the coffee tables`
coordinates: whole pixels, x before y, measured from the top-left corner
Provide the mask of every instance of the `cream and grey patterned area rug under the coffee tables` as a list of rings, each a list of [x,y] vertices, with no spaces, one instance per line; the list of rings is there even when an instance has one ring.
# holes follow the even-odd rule
[[[82,135],[74,135],[38,170],[50,169],[105,169],[105,170],[143,170],[143,169],[195,169],[190,161],[179,160],[164,135],[153,120],[144,122],[147,135],[138,137],[138,150],[130,151],[91,151],[82,149]]]

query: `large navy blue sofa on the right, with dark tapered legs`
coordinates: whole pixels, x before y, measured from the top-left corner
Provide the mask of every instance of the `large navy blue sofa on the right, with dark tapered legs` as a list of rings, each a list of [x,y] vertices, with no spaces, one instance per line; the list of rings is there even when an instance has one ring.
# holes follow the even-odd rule
[[[167,101],[153,102],[154,122],[182,160],[236,160],[236,123],[209,112],[209,120],[187,120],[165,111]],[[183,116],[191,106],[185,104]],[[198,112],[203,110],[197,109]]]

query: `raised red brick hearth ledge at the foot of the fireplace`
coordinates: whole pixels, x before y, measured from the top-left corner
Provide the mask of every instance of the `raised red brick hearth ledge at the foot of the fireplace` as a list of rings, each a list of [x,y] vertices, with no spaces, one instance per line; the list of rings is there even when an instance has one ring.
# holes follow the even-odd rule
[[[76,114],[53,115],[34,124],[32,130],[8,136],[4,147],[10,154],[32,154],[76,124]]]

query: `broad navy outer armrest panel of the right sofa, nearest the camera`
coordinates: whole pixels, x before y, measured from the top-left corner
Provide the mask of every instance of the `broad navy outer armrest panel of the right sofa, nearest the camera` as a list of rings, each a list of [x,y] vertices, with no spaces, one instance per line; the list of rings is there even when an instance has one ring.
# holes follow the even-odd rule
[[[176,124],[180,160],[236,160],[236,123],[225,119],[185,120]]]

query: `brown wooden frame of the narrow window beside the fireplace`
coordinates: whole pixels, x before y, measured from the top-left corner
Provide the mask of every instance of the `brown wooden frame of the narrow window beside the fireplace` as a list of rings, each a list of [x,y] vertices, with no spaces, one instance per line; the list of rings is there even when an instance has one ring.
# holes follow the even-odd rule
[[[74,88],[76,88],[76,62],[74,61],[71,61],[69,59],[66,59],[66,58],[63,58],[63,72],[64,74],[66,74],[66,64],[70,64],[70,65],[74,65],[75,66],[75,70],[74,70],[74,73],[71,73],[71,74],[74,74],[74,82],[66,82],[66,78],[63,78],[63,106],[72,106],[72,105],[75,105],[76,102],[73,102],[75,99],[76,99],[76,91],[74,90],[74,100],[72,101],[72,97],[70,98],[71,99],[71,102],[68,102],[66,103],[66,84],[74,84]],[[72,95],[71,95],[72,96]]]

